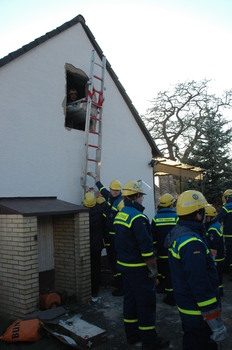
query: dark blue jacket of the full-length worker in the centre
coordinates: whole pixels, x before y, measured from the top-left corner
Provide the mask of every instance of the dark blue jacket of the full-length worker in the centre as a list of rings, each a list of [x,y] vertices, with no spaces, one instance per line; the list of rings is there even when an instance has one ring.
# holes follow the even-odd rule
[[[114,220],[117,264],[121,271],[144,267],[146,260],[154,258],[151,228],[143,214],[144,207],[127,198],[124,204]]]

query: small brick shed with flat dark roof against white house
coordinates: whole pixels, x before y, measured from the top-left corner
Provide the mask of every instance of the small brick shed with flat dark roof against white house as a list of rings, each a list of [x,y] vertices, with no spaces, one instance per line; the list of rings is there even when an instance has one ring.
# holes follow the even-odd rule
[[[53,247],[46,252],[46,240],[42,239],[41,248],[38,238],[46,239],[47,232]],[[39,266],[51,258],[54,289],[75,296],[77,303],[89,301],[88,209],[56,197],[0,198],[1,313],[22,317],[38,310],[41,275],[47,273],[40,272]]]

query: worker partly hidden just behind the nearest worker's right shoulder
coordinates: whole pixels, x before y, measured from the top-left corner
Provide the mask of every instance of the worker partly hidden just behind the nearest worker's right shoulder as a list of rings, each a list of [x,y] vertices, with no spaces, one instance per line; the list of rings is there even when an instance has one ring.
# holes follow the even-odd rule
[[[211,252],[219,278],[220,295],[223,296],[223,264],[225,262],[225,244],[222,232],[222,226],[219,221],[213,222],[213,218],[217,216],[217,211],[212,205],[205,208],[205,229],[206,240]]]

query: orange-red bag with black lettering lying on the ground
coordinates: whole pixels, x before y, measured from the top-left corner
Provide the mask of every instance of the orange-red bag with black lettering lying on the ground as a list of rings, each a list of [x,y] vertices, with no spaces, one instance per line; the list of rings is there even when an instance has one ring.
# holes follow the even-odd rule
[[[0,337],[0,340],[4,340],[8,343],[14,342],[35,342],[40,339],[40,330],[42,328],[42,322],[35,318],[33,320],[16,320],[10,325],[5,333]]]

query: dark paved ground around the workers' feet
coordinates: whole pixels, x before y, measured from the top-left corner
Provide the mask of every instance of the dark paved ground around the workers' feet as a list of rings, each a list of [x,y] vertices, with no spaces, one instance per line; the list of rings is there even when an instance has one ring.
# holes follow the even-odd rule
[[[225,296],[222,298],[222,318],[227,326],[230,340],[222,344],[221,349],[232,350],[232,281],[225,275]],[[112,286],[104,285],[101,288],[101,299],[97,303],[89,303],[83,308],[71,305],[72,310],[81,314],[82,318],[91,324],[106,330],[107,342],[96,347],[96,350],[129,350],[124,335],[122,322],[122,297],[111,295]],[[162,302],[163,295],[157,295],[157,332],[159,335],[170,340],[169,349],[182,349],[182,330],[178,311],[176,307],[170,307]],[[8,321],[0,315],[0,334],[9,325]],[[61,342],[44,335],[42,339],[33,344],[8,344],[0,342],[1,350],[65,350],[70,347]],[[70,348],[71,349],[71,348]]]

